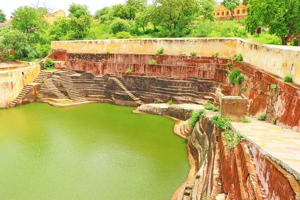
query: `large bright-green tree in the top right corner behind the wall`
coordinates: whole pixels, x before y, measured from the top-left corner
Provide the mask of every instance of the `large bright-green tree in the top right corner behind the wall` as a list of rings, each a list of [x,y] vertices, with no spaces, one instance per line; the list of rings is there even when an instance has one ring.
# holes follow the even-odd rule
[[[254,34],[258,26],[267,26],[286,45],[292,34],[300,31],[299,0],[249,0],[247,30]],[[299,41],[300,43],[300,41]]]

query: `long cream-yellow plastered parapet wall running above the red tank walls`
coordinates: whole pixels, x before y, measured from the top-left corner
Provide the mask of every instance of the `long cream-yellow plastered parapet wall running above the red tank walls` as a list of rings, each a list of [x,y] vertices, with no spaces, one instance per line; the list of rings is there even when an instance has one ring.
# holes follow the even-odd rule
[[[52,41],[51,49],[67,52],[106,52],[154,54],[163,47],[167,54],[195,52],[207,55],[218,52],[220,57],[242,53],[244,61],[283,77],[291,73],[300,84],[300,47],[249,42],[241,38],[142,38]]]

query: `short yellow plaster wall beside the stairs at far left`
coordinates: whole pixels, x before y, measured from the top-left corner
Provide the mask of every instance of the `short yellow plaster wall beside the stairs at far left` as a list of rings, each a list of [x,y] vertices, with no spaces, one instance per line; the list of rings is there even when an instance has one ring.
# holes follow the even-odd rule
[[[0,71],[0,108],[11,102],[27,83],[33,82],[39,71],[39,64]]]

